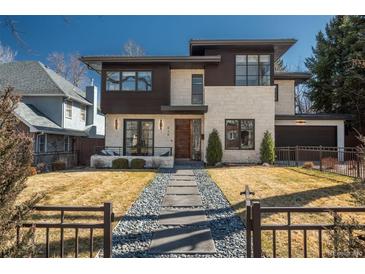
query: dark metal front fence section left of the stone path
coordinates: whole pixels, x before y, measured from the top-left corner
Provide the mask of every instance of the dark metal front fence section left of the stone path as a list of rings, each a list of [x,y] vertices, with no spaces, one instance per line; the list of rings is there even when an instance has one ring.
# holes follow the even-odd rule
[[[32,229],[45,229],[45,257],[50,257],[50,229],[60,230],[60,254],[59,257],[64,257],[64,230],[74,229],[74,246],[75,246],[75,257],[79,257],[79,230],[89,230],[89,256],[93,257],[94,253],[94,230],[99,229],[103,231],[103,256],[104,258],[111,258],[112,256],[112,222],[114,221],[114,213],[112,203],[104,203],[100,207],[92,206],[35,206],[34,211],[56,211],[60,213],[59,223],[46,223],[46,222],[27,222],[17,227],[16,242],[20,243],[21,228],[32,228]],[[103,222],[99,223],[66,223],[65,213],[66,212],[101,212],[103,213]],[[46,216],[45,216],[46,217]]]

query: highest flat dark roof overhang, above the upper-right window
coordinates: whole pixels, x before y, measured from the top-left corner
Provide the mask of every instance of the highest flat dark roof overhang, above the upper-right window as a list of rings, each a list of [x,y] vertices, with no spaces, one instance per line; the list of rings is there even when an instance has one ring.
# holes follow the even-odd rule
[[[247,49],[273,49],[274,59],[279,59],[292,45],[295,39],[237,39],[237,40],[190,40],[190,55],[203,55],[206,48],[242,47]]]

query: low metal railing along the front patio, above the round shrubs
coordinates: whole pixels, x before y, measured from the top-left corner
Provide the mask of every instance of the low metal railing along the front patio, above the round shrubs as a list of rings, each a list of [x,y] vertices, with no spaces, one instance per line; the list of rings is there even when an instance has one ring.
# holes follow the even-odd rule
[[[95,154],[105,156],[172,156],[172,147],[96,146]]]

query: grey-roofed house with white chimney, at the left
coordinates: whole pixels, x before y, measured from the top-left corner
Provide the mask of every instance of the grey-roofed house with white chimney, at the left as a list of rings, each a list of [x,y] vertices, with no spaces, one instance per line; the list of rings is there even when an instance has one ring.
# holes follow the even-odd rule
[[[0,90],[7,86],[22,96],[15,114],[34,138],[36,164],[88,164],[95,151],[90,145],[104,145],[105,117],[95,86],[83,92],[36,61],[0,64]]]

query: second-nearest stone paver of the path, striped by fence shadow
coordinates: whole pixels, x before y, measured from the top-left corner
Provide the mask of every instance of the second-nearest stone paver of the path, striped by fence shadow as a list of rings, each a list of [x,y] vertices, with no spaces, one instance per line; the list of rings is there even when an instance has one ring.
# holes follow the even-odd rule
[[[161,209],[159,224],[161,225],[194,225],[207,221],[202,209]]]

